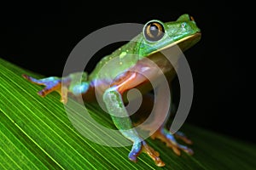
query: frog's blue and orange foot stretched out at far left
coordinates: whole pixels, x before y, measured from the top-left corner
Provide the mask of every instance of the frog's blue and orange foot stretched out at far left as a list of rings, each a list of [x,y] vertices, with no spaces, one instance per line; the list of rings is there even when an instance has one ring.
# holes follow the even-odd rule
[[[33,77],[29,77],[27,75],[22,75],[22,77],[26,78],[26,80],[28,80],[29,82],[45,86],[43,90],[40,90],[38,92],[40,96],[44,97],[47,94],[50,94],[51,92],[56,91],[59,94],[61,94],[61,102],[67,103],[67,88],[64,87],[61,89],[61,78],[47,77],[43,79],[36,79]]]

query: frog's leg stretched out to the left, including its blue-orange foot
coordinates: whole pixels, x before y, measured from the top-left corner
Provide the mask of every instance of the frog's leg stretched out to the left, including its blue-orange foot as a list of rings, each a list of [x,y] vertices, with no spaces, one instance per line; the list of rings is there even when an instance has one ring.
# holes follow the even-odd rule
[[[90,82],[87,81],[87,73],[76,72],[68,75],[67,77],[47,77],[36,79],[27,75],[22,75],[29,82],[44,85],[45,88],[40,90],[38,94],[42,97],[50,94],[51,92],[58,92],[61,94],[61,102],[67,103],[67,94],[80,95],[87,92],[90,87]]]

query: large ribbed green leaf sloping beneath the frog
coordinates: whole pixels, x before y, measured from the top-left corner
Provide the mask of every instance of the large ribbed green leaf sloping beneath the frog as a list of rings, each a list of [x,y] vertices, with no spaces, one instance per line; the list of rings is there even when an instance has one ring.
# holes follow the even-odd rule
[[[137,163],[128,160],[131,146],[108,147],[86,139],[70,122],[57,93],[44,99],[42,87],[27,82],[21,74],[42,77],[0,59],[0,169],[255,169],[256,146],[184,125],[193,139],[194,156],[176,156],[159,140],[147,139],[166,167],[156,167],[147,155]],[[73,105],[78,105],[74,102]],[[81,108],[82,109],[82,108]],[[87,105],[90,115],[106,127],[113,124],[96,105]],[[74,111],[76,112],[76,111]],[[91,126],[83,120],[81,126]],[[99,138],[91,133],[93,138]],[[100,139],[99,139],[100,140]]]

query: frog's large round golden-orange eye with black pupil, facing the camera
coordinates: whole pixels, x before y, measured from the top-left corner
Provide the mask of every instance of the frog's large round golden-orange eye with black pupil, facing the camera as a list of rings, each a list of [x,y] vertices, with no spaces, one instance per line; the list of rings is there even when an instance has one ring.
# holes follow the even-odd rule
[[[165,29],[160,22],[151,21],[144,26],[143,34],[149,42],[157,42],[165,35]]]

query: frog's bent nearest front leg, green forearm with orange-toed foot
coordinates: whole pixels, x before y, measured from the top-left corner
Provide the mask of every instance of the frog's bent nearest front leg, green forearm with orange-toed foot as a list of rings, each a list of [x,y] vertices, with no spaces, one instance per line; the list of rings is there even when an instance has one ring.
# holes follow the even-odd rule
[[[137,74],[133,73],[131,77],[127,79],[122,79],[123,81],[117,83],[116,85],[108,88],[103,94],[103,100],[107,106],[108,113],[113,119],[113,123],[119,129],[125,138],[130,139],[133,142],[131,152],[129,153],[129,159],[131,161],[137,161],[137,156],[142,152],[148,154],[155,164],[159,167],[165,166],[165,163],[161,161],[160,154],[151,148],[137,133],[135,128],[132,127],[131,119],[128,112],[125,109],[125,105],[122,100],[122,94],[125,89],[130,89],[136,85],[135,82],[141,82],[143,79],[136,78]],[[136,80],[137,79],[137,80]],[[131,83],[132,82],[132,83]]]

